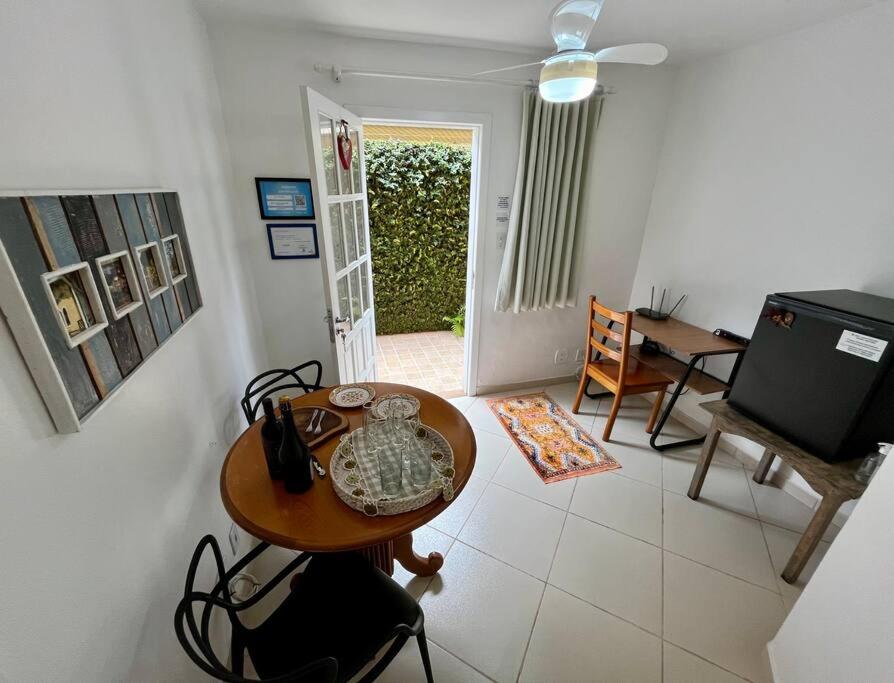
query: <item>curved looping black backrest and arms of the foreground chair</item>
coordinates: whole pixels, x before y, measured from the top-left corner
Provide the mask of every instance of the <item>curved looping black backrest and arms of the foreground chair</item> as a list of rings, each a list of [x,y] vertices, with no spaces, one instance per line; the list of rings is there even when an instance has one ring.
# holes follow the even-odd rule
[[[210,534],[205,536],[193,553],[192,560],[189,563],[189,569],[186,572],[186,586],[183,591],[183,599],[177,605],[174,614],[174,630],[177,633],[177,640],[183,647],[189,658],[209,676],[213,676],[221,681],[231,681],[232,683],[252,683],[258,679],[248,679],[242,675],[243,656],[246,643],[246,634],[248,629],[243,626],[239,620],[239,612],[249,609],[258,604],[270,591],[280,583],[284,578],[295,572],[302,564],[304,564],[310,555],[303,554],[289,562],[273,579],[270,580],[260,591],[248,600],[243,602],[233,602],[230,597],[229,586],[230,581],[248,565],[249,562],[258,557],[264,550],[269,547],[267,543],[261,543],[253,548],[251,552],[245,555],[239,562],[233,565],[229,571],[224,571],[223,555],[220,552],[220,545],[217,539]],[[196,571],[199,562],[205,554],[206,548],[211,548],[214,556],[214,562],[217,567],[217,583],[210,593],[197,591],[195,589]],[[200,608],[200,619],[196,619],[196,608]],[[230,642],[230,661],[232,668],[227,666],[218,658],[214,652],[211,642],[210,626],[211,617],[214,608],[223,609],[230,620],[232,626],[232,636]],[[291,681],[297,683],[299,681],[330,681],[335,680],[338,674],[338,663],[332,657],[323,657],[319,660],[306,664],[300,669],[291,671],[288,674],[277,676],[276,678],[264,679],[271,683],[285,683]]]

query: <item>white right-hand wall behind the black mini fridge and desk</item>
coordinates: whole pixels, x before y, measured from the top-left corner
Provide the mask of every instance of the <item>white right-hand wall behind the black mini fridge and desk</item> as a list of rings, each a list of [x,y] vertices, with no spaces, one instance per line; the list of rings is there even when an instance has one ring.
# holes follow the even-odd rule
[[[887,3],[680,69],[631,306],[750,336],[771,292],[894,296],[892,31]]]

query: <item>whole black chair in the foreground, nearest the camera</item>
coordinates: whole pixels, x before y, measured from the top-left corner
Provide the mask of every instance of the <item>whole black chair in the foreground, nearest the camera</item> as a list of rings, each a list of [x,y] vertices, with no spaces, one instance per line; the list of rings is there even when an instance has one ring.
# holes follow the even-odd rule
[[[214,555],[218,580],[210,593],[204,593],[196,591],[193,584],[208,547]],[[224,571],[214,536],[205,536],[196,547],[174,628],[180,645],[202,671],[222,681],[254,680],[243,677],[247,650],[259,675],[257,680],[341,683],[356,676],[393,640],[361,679],[361,683],[367,683],[378,678],[410,636],[416,636],[426,680],[432,683],[422,609],[401,586],[357,553],[299,555],[251,598],[233,602],[230,581],[268,547],[261,543],[229,571]],[[252,629],[244,626],[239,612],[258,604],[308,560],[307,569],[292,582],[289,596],[264,623]],[[209,631],[215,607],[226,611],[232,627],[229,668],[211,643]]]

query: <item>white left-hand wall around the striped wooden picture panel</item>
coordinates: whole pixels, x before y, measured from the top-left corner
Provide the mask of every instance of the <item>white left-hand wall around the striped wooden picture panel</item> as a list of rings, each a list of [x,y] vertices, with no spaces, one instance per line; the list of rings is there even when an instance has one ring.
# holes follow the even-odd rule
[[[0,63],[0,190],[178,191],[205,300],[67,436],[0,323],[0,680],[201,680],[173,610],[199,537],[226,537],[219,468],[265,363],[204,24],[178,0],[0,0]]]

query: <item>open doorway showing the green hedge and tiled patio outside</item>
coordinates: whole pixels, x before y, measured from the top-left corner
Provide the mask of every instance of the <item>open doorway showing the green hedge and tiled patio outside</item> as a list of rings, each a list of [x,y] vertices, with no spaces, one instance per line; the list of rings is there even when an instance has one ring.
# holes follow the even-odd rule
[[[471,393],[476,126],[365,119],[380,381]]]

